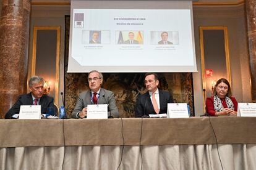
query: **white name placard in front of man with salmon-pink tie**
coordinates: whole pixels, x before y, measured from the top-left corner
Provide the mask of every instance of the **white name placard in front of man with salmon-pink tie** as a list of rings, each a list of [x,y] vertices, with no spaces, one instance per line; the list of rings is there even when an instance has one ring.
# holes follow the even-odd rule
[[[168,103],[167,117],[189,118],[189,112],[187,111],[187,103]]]

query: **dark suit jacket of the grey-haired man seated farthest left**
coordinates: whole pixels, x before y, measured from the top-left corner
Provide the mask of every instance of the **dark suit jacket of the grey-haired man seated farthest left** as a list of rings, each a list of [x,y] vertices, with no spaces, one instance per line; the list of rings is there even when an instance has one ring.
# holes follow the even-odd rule
[[[19,96],[19,99],[16,103],[10,108],[10,110],[6,113],[4,118],[11,119],[12,115],[20,113],[21,105],[33,105],[32,93],[23,94]],[[49,97],[48,95],[43,95],[40,98],[39,105],[41,105],[41,114],[45,114],[48,107],[54,107],[53,105],[53,97]]]

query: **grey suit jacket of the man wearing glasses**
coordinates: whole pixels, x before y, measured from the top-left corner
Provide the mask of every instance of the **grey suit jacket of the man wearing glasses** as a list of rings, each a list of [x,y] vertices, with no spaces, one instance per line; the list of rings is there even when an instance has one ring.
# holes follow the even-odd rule
[[[74,110],[72,111],[72,118],[77,118],[77,113],[82,111],[87,105],[93,105],[91,91],[85,91],[79,94],[77,103]],[[101,88],[98,104],[108,104],[108,115],[114,118],[119,117],[118,108],[116,107],[116,99],[114,99],[114,94],[111,91]]]

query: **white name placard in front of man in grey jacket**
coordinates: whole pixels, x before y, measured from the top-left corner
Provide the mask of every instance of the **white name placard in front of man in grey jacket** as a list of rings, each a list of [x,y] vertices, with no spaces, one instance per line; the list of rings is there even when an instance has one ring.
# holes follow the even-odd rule
[[[108,119],[108,105],[87,105],[87,119]]]

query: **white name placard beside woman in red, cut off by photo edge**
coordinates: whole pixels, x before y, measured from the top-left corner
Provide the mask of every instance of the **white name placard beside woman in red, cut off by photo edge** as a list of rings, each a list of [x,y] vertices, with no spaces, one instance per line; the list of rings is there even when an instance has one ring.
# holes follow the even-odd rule
[[[238,103],[237,116],[255,117],[256,103]]]

